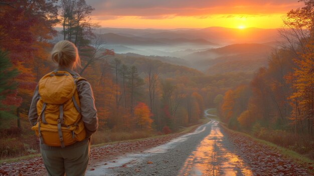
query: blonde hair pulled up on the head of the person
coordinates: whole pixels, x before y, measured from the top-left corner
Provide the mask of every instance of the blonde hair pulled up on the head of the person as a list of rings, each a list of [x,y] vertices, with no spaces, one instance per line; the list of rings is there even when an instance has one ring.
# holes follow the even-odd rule
[[[81,60],[76,46],[67,40],[56,43],[51,52],[51,59],[60,67],[81,67]]]

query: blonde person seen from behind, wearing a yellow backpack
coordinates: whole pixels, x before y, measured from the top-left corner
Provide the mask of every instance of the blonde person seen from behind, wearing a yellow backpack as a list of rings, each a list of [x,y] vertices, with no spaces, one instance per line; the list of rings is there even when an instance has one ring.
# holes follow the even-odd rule
[[[84,175],[91,135],[98,128],[90,84],[73,71],[80,67],[75,45],[58,42],[51,59],[58,68],[38,83],[30,111],[48,175]]]

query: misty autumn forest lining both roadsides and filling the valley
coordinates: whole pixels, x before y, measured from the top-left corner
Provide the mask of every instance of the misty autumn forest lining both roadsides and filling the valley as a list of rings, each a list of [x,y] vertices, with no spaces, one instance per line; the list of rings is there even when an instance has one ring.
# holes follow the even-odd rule
[[[77,46],[82,67],[75,71],[93,88],[99,118],[93,144],[177,132],[200,123],[206,108],[217,108],[231,129],[314,156],[313,3],[303,1],[287,14],[279,31],[285,42],[267,48],[265,67],[254,71],[244,65],[256,62],[247,60],[234,63],[235,72],[201,72],[103,48],[105,39],[94,33],[100,26],[90,19],[94,7],[84,0],[57,2],[0,3],[2,159],[39,151],[28,109],[40,78],[56,68],[50,59],[56,38]]]

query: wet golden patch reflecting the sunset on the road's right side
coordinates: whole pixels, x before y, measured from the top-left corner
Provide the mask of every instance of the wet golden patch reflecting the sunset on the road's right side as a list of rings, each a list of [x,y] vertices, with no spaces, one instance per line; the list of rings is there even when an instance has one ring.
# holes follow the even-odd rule
[[[185,161],[178,175],[253,175],[243,160],[223,144],[224,135],[214,121],[211,132]]]

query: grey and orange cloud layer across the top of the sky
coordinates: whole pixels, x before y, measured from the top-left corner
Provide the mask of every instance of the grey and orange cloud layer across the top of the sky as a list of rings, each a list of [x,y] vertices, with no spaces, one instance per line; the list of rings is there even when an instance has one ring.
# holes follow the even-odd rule
[[[93,16],[138,16],[144,19],[213,14],[283,14],[303,6],[296,0],[86,0],[86,3],[96,9]]]

